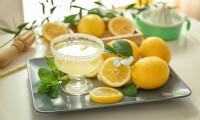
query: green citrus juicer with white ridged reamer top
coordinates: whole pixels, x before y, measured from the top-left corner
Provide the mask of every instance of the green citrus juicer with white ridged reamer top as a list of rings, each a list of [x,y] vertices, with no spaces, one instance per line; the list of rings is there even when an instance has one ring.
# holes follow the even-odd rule
[[[136,16],[136,24],[145,37],[157,36],[166,41],[176,40],[182,29],[182,24],[187,23],[190,29],[190,21],[166,3],[159,3],[157,7],[145,10]]]

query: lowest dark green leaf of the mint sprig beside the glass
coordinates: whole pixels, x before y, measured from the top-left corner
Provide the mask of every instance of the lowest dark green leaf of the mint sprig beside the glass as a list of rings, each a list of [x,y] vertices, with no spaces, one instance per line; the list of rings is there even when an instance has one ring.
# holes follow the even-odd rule
[[[47,95],[51,99],[56,99],[59,97],[59,92],[60,92],[59,85],[54,85],[51,86]]]

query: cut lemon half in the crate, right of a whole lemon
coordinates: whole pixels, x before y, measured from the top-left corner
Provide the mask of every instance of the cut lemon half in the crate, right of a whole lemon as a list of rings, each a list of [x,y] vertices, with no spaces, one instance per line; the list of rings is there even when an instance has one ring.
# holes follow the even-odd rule
[[[108,23],[108,30],[113,35],[126,35],[135,31],[133,22],[124,17],[114,17]]]

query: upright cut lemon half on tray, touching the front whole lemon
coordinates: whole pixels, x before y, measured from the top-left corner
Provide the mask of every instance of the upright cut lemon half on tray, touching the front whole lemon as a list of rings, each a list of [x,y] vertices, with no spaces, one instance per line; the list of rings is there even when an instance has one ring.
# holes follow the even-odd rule
[[[121,87],[131,79],[131,67],[120,65],[115,67],[113,61],[120,57],[108,58],[104,61],[100,71],[99,78],[110,87]]]

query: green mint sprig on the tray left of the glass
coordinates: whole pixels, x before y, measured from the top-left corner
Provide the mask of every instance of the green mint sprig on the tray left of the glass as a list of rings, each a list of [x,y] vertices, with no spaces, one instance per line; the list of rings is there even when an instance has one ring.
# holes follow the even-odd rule
[[[38,76],[40,78],[40,86],[38,93],[46,94],[51,99],[59,97],[59,85],[66,85],[70,78],[63,72],[59,71],[54,64],[53,59],[45,57],[45,62],[50,69],[40,68]]]

